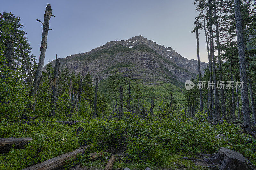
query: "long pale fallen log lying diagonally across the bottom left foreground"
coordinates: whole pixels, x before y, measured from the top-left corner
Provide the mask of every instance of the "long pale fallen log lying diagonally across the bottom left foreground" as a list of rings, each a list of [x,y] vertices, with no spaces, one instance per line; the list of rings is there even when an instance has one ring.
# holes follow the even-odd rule
[[[29,166],[23,170],[54,170],[54,169],[59,169],[62,166],[66,165],[66,160],[71,158],[71,159],[76,159],[77,155],[79,153],[83,153],[87,148],[92,147],[93,144],[90,144],[88,146],[84,146],[82,148],[76,149],[74,151],[62,154],[60,156],[54,157],[52,159],[46,160],[44,162],[41,162],[39,164]]]

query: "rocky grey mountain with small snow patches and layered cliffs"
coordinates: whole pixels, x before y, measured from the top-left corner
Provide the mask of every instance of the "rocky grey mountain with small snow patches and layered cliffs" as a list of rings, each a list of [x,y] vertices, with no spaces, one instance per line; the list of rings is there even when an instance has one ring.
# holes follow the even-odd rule
[[[54,65],[54,61],[50,64]],[[182,57],[171,47],[158,45],[152,40],[135,36],[126,41],[110,41],[105,45],[82,54],[74,54],[59,60],[60,71],[67,67],[69,72],[90,72],[93,79],[108,78],[110,72],[118,69],[123,76],[130,72],[133,78],[152,82],[167,82],[176,86],[198,74],[197,60]],[[203,73],[207,63],[201,62]]]

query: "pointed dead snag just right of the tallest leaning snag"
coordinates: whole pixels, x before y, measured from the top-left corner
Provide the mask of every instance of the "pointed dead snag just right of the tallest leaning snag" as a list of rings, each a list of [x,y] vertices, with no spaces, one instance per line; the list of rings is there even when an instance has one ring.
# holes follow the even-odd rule
[[[49,111],[49,117],[55,116],[55,109],[56,109],[56,102],[57,102],[57,95],[58,95],[58,83],[59,83],[59,75],[60,75],[60,63],[57,59],[55,59],[55,66],[54,66],[54,72],[53,72],[53,83],[52,83],[52,96],[51,96],[51,109]]]

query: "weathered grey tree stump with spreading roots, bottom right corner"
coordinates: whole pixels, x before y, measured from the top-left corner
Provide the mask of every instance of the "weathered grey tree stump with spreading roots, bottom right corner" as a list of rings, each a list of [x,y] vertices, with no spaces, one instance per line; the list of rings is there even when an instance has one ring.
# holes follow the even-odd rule
[[[204,158],[203,160],[204,162],[218,165],[219,170],[249,170],[256,168],[241,153],[228,148],[220,148],[211,157]]]

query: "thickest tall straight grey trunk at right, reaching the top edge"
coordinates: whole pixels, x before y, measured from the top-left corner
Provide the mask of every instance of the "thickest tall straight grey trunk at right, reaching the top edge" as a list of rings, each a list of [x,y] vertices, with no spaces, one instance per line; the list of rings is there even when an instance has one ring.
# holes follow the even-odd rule
[[[235,18],[236,18],[236,38],[237,48],[239,57],[239,72],[240,82],[243,82],[243,88],[241,89],[242,98],[242,110],[245,130],[251,134],[251,123],[250,123],[250,112],[249,112],[249,98],[248,98],[248,87],[247,87],[247,72],[246,72],[246,60],[245,60],[245,45],[244,45],[244,34],[242,27],[242,17],[240,12],[240,1],[234,0]]]

